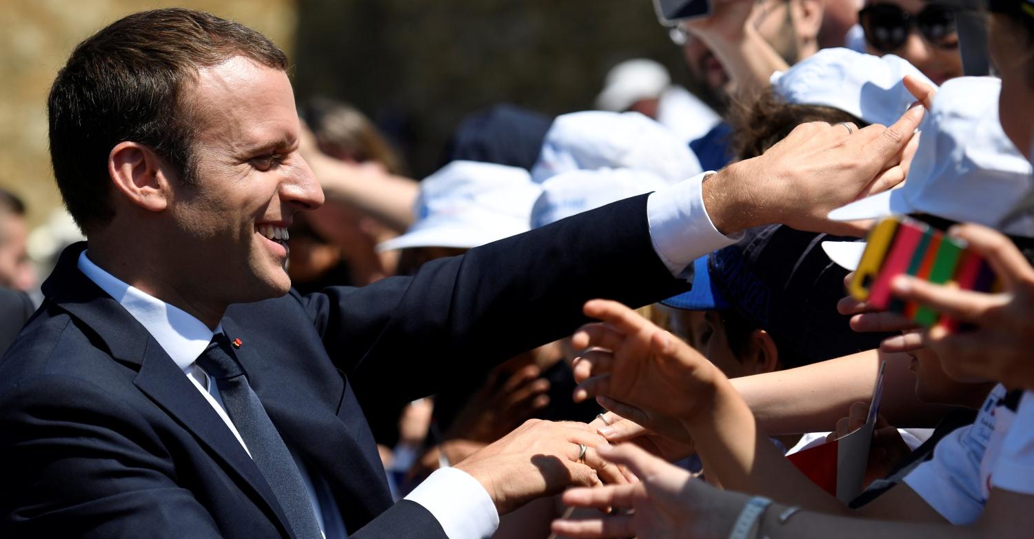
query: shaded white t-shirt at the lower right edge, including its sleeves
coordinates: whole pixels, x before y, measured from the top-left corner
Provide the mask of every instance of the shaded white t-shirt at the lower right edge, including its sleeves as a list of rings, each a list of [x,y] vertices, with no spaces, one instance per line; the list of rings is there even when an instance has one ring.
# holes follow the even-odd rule
[[[991,488],[1034,495],[1034,394],[1017,410],[1005,406],[998,385],[976,421],[944,437],[934,456],[905,476],[905,483],[953,525],[977,520]]]

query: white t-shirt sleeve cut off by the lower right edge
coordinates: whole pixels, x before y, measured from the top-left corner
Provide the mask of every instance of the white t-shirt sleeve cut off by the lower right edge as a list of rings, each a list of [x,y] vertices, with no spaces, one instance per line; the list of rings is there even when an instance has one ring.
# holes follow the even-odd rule
[[[996,488],[1034,495],[1034,393],[1024,392],[1023,400],[1002,442],[1002,451],[991,474]]]

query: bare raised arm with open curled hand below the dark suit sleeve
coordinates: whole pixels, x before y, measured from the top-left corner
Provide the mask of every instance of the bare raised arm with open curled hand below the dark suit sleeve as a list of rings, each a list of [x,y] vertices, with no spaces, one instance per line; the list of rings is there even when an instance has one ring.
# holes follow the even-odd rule
[[[590,301],[585,313],[602,323],[579,330],[575,348],[612,352],[596,350],[575,361],[576,376],[584,380],[576,399],[595,396],[612,412],[672,438],[681,427],[708,476],[725,488],[852,514],[783,456],[729,380],[697,351],[617,302]],[[884,518],[940,518],[908,487],[864,511]]]

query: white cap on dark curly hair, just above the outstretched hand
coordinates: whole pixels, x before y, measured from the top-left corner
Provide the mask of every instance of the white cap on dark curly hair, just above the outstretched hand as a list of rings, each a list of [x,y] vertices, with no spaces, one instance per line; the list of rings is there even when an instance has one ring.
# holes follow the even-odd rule
[[[823,49],[787,71],[776,71],[770,82],[788,102],[832,107],[868,123],[890,125],[915,101],[902,83],[906,74],[937,88],[902,58],[850,49]]]

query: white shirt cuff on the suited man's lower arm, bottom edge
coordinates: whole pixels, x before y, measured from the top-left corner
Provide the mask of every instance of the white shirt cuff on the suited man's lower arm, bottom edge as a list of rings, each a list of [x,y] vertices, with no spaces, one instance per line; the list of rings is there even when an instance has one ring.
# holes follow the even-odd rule
[[[435,470],[405,497],[427,509],[449,539],[491,537],[499,527],[499,513],[477,479],[462,470]]]

